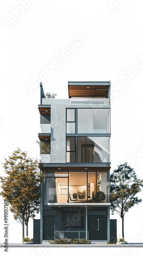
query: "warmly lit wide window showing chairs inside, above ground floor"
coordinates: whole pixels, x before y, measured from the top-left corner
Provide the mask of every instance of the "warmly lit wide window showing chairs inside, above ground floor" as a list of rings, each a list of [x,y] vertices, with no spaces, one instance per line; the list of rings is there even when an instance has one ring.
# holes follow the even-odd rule
[[[43,205],[48,203],[104,203],[107,172],[44,172]]]

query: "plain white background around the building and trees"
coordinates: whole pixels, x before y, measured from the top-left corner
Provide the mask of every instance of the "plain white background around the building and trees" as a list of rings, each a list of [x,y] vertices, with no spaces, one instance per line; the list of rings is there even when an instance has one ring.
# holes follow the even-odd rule
[[[1,176],[4,158],[17,146],[39,159],[39,81],[44,92],[68,98],[68,81],[110,80],[111,172],[128,162],[142,179],[142,8],[142,0],[1,1]],[[142,210],[140,203],[125,215],[128,242],[143,242]],[[122,219],[111,218],[122,237]],[[22,226],[9,212],[9,242],[21,239]]]

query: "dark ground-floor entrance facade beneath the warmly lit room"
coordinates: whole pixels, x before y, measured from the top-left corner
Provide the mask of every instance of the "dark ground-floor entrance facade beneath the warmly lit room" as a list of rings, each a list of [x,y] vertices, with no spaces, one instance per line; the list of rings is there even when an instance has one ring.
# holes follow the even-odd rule
[[[107,207],[58,207],[43,210],[42,240],[86,238],[107,241],[108,228]]]

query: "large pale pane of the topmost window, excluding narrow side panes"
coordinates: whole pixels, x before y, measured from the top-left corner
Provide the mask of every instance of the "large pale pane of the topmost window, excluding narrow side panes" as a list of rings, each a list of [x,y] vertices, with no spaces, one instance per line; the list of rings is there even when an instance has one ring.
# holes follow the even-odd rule
[[[110,133],[109,109],[78,109],[78,133]]]

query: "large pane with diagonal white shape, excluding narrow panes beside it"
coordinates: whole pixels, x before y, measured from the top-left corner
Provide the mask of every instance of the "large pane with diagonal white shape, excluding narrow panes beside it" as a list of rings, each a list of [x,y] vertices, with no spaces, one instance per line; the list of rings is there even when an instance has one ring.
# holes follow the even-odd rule
[[[109,161],[109,137],[78,137],[78,162]]]

